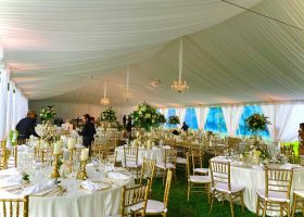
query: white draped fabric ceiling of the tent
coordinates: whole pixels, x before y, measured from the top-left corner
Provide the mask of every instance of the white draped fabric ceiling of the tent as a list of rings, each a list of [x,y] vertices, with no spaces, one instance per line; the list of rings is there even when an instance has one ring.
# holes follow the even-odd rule
[[[303,0],[230,1],[304,28]],[[4,63],[30,100],[98,104],[106,79],[122,104],[127,65],[126,105],[304,100],[304,31],[220,0],[2,0],[0,11]],[[181,36],[190,89],[178,94]]]

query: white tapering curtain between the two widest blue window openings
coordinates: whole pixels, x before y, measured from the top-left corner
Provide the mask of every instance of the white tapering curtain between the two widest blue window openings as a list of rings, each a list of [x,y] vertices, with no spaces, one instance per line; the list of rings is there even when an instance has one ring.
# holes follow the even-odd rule
[[[229,105],[221,107],[227,131],[229,136],[236,136],[237,128],[239,126],[244,107],[238,105]]]

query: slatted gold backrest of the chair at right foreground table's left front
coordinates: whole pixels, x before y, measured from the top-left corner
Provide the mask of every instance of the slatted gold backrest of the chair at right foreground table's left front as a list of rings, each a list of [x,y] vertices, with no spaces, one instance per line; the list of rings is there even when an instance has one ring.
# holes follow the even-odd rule
[[[225,184],[228,187],[228,191],[231,191],[231,175],[230,175],[230,162],[210,162],[212,187],[216,184]]]

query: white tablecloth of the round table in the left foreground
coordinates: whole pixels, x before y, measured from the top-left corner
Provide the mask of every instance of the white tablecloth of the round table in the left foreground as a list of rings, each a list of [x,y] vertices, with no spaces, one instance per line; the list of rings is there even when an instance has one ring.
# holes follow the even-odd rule
[[[134,178],[130,177],[127,180],[110,179],[105,177],[105,173],[97,171],[96,167],[89,165],[87,165],[87,173],[90,180],[104,181],[111,183],[111,187],[101,191],[89,192],[80,189],[83,180],[60,178],[60,186],[67,191],[62,195],[29,196],[29,216],[86,217],[117,215],[121,205],[122,186],[134,184]],[[10,174],[16,174],[16,168],[0,170],[0,179],[10,176]],[[20,196],[1,190],[1,188],[0,194],[1,197]]]

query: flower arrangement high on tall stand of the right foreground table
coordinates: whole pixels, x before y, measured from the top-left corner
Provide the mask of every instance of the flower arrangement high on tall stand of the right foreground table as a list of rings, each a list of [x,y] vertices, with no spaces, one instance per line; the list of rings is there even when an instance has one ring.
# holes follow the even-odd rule
[[[255,113],[245,119],[245,126],[252,133],[266,130],[267,125],[270,125],[270,122],[264,114]]]

